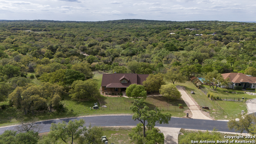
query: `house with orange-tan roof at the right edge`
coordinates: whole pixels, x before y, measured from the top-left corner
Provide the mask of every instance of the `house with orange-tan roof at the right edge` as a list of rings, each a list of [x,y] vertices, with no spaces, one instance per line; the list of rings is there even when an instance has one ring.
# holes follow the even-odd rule
[[[235,86],[242,86],[243,89],[246,88],[256,88],[256,77],[248,76],[242,73],[226,73],[221,74],[223,78],[229,78],[230,83],[228,84],[228,88],[235,88]],[[225,86],[221,86],[225,88]]]

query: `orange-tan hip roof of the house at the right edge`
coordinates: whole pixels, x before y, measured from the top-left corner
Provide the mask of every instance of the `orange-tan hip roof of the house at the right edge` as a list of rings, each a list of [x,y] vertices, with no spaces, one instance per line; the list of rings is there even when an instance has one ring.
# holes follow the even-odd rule
[[[230,82],[233,82],[233,83],[241,83],[241,82],[246,82],[250,84],[256,83],[256,77],[246,76],[243,73],[226,73],[221,75],[225,80],[226,78],[229,78]]]

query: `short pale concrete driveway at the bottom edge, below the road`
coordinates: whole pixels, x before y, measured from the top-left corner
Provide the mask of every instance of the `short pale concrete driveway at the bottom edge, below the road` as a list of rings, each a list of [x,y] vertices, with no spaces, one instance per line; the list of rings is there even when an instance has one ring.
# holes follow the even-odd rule
[[[164,134],[164,144],[178,144],[178,136],[181,128],[168,128],[157,126]]]

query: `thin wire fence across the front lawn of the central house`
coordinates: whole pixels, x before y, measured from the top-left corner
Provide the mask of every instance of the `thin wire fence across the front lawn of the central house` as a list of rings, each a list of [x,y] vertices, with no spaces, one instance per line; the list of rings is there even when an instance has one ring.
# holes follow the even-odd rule
[[[171,112],[184,112],[189,108],[186,106],[184,108],[179,108],[178,106],[148,106],[148,110],[154,110],[158,107],[160,110],[171,111]],[[107,106],[107,108],[101,107],[103,110],[130,110],[130,106]]]

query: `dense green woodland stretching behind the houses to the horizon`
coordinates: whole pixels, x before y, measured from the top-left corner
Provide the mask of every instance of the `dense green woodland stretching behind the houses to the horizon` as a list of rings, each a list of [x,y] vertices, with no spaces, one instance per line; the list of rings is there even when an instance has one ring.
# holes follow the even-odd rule
[[[256,76],[256,23],[0,20],[2,112],[29,119],[54,111],[58,117],[62,100],[96,100],[100,92],[92,78],[104,72],[151,74],[152,81],[173,84],[206,74]],[[146,90],[158,91],[150,80]]]

